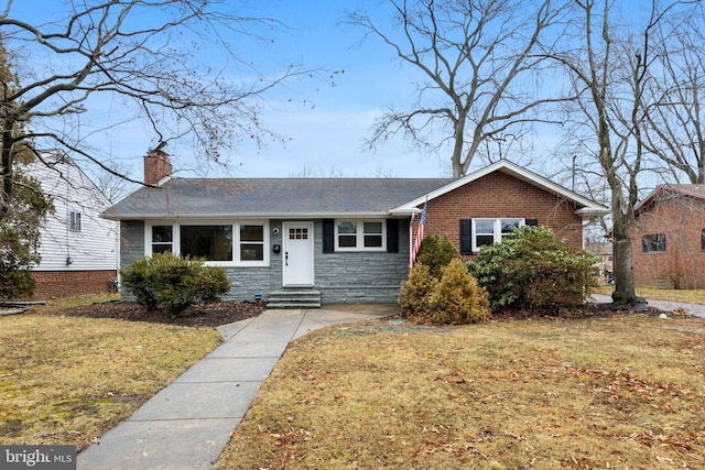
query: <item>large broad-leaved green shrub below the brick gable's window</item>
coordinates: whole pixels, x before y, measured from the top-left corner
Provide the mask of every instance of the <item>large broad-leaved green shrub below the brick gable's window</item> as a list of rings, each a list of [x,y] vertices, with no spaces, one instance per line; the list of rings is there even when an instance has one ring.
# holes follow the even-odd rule
[[[583,303],[597,287],[597,259],[574,252],[545,227],[520,227],[501,243],[482,247],[470,273],[489,295],[490,307],[540,308]]]

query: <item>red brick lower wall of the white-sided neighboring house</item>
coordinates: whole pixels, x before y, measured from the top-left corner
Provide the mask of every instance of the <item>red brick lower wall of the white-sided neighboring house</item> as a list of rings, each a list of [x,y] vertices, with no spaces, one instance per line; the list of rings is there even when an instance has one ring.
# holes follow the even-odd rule
[[[34,298],[70,297],[110,292],[111,271],[39,271],[32,277],[36,283]]]

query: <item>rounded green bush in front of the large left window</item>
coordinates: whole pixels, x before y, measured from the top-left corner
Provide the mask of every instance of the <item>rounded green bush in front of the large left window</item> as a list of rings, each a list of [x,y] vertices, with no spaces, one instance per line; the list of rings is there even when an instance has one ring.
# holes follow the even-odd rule
[[[205,266],[204,260],[170,252],[143,258],[120,270],[122,285],[149,310],[166,305],[178,314],[196,302],[215,302],[230,289],[224,267]]]

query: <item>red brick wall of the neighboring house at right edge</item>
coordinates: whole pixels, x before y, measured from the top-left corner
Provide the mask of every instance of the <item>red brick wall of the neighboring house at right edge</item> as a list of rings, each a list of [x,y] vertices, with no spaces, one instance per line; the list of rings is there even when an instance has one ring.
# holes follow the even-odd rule
[[[705,288],[703,229],[704,200],[691,197],[657,200],[649,211],[637,218],[629,232],[634,284]],[[665,233],[666,251],[644,253],[642,237],[657,233]]]

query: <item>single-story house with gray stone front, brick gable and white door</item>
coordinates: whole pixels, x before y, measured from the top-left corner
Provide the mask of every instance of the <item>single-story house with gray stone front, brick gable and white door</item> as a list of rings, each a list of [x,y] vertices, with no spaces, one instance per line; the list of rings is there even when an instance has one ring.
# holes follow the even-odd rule
[[[426,199],[425,233],[465,255],[524,223],[581,248],[583,221],[608,212],[508,161],[459,179],[169,178],[154,151],[144,168],[159,187],[104,212],[121,223],[122,265],[160,251],[206,256],[228,270],[226,298],[261,293],[273,305],[293,305],[292,293],[317,296],[313,306],[395,302]]]

